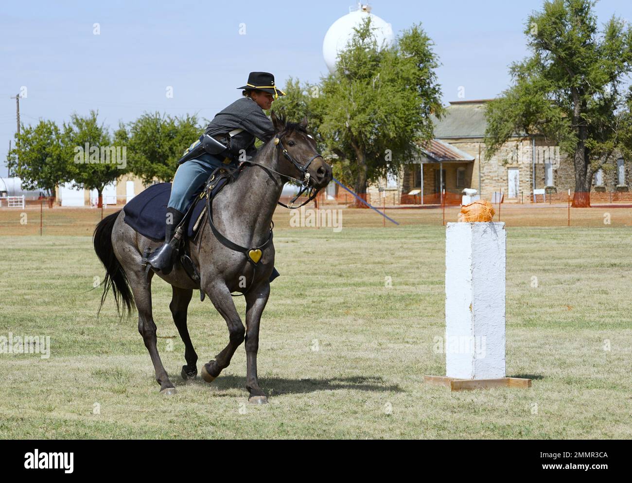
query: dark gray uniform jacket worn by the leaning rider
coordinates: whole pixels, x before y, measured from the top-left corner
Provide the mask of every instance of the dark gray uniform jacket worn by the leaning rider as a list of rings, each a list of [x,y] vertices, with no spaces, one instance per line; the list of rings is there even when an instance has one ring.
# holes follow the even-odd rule
[[[243,131],[231,138],[231,152],[235,156],[239,155],[241,149],[246,151],[246,156],[254,156],[257,152],[255,137],[268,142],[274,133],[272,121],[265,116],[257,102],[249,97],[241,97],[217,113],[204,133],[215,137],[228,134],[237,128]]]

